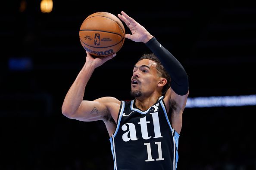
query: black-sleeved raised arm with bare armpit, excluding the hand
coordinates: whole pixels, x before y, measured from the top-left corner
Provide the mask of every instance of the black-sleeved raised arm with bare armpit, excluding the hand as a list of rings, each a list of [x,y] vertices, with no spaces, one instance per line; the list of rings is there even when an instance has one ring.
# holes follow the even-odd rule
[[[165,70],[171,76],[171,88],[166,92],[164,102],[166,109],[172,111],[172,127],[175,131],[180,133],[182,127],[182,113],[186,106],[189,93],[187,73],[181,63],[166,50],[156,38],[151,38],[146,45],[159,58]]]

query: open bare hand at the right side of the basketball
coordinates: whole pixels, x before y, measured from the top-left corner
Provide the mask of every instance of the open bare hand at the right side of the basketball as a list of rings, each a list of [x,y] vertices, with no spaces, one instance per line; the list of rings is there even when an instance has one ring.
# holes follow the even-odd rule
[[[129,17],[125,12],[121,12],[122,15],[118,14],[118,17],[125,22],[127,27],[131,30],[131,34],[125,34],[125,38],[131,39],[135,42],[147,43],[148,40],[153,38],[152,35],[133,18]]]

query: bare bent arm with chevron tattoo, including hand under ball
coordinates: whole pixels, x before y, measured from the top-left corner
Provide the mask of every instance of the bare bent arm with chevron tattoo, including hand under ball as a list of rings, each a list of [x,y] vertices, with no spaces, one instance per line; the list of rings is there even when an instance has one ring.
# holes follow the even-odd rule
[[[62,114],[68,118],[81,121],[102,120],[108,114],[108,103],[116,102],[113,97],[102,97],[94,101],[83,100],[84,90],[94,70],[116,56],[109,55],[102,58],[93,58],[88,52],[84,67],[69,88],[62,104]]]

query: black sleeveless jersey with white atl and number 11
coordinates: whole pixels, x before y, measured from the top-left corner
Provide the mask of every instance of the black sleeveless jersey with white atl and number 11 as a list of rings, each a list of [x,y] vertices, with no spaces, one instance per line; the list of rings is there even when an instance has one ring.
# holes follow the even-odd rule
[[[122,101],[110,137],[114,170],[176,170],[179,134],[172,128],[160,97],[146,111]]]

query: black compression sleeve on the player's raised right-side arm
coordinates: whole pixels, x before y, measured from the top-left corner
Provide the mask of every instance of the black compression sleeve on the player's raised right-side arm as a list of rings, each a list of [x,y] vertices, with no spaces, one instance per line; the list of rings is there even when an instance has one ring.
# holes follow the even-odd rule
[[[155,37],[150,39],[146,46],[159,58],[165,70],[171,76],[171,88],[178,95],[185,95],[188,92],[187,73],[180,62],[161,44]]]

